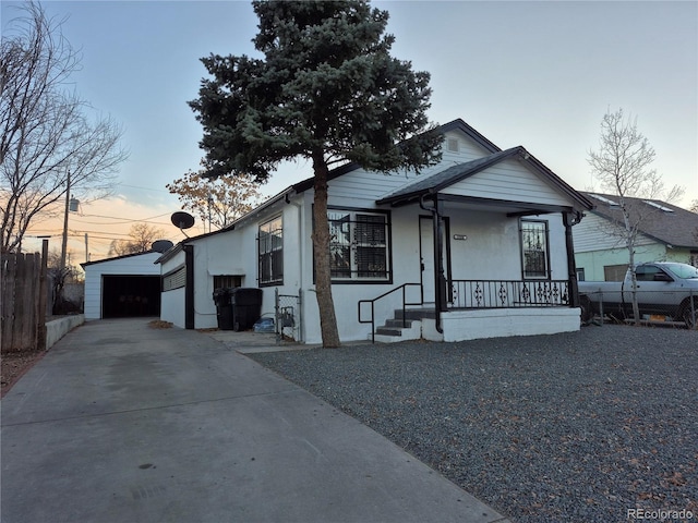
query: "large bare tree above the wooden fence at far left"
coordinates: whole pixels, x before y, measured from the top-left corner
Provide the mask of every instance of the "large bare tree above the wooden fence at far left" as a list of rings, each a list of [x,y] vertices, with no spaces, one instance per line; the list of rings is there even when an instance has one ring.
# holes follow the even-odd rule
[[[32,220],[58,212],[67,193],[84,200],[109,194],[128,156],[119,125],[73,92],[80,56],[62,37],[62,22],[34,1],[21,9],[1,44],[2,252],[20,251]]]

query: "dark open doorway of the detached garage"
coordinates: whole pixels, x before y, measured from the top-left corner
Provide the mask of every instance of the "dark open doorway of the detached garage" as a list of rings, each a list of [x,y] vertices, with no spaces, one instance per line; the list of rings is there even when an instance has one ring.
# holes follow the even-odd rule
[[[159,276],[103,276],[103,318],[159,315]]]

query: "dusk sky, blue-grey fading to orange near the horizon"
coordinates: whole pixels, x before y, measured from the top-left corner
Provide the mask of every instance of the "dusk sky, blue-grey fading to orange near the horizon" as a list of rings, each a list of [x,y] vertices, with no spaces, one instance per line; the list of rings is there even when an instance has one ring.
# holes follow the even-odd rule
[[[16,5],[2,1],[3,33],[19,14]],[[461,118],[503,149],[525,146],[575,188],[587,190],[593,183],[587,157],[598,145],[601,119],[606,110],[623,108],[637,117],[654,147],[654,168],[665,184],[686,188],[678,205],[698,199],[697,2],[373,5],[390,14],[393,56],[432,74],[433,122]],[[94,259],[104,257],[109,238],[123,238],[129,223],[144,218],[181,240],[169,224],[180,205],[165,185],[196,170],[202,158],[202,130],[186,105],[206,73],[198,59],[212,52],[255,54],[257,19],[251,4],[46,1],[44,7],[49,16],[67,17],[63,35],[82,50],[76,92],[121,122],[131,154],[121,167],[118,196],[84,206],[83,216],[71,216],[71,230],[91,231]],[[311,175],[304,160],[284,166],[262,192],[276,194]],[[55,229],[40,224],[33,231]]]

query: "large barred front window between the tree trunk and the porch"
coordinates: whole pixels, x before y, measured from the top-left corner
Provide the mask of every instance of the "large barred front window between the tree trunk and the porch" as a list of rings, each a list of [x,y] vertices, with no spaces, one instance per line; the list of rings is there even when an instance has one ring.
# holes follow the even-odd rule
[[[387,216],[330,210],[327,218],[333,279],[389,280]]]

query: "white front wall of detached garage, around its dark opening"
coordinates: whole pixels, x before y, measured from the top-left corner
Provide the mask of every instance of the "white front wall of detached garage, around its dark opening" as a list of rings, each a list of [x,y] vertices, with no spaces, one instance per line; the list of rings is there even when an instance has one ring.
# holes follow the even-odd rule
[[[85,264],[85,319],[101,318],[103,276],[158,276],[155,260],[159,257],[160,253],[143,253]]]

